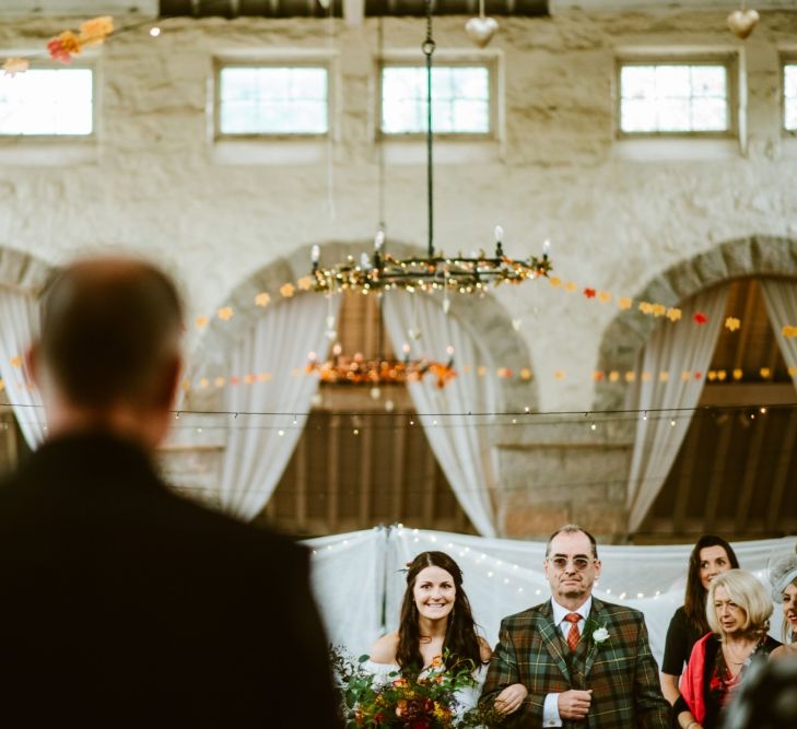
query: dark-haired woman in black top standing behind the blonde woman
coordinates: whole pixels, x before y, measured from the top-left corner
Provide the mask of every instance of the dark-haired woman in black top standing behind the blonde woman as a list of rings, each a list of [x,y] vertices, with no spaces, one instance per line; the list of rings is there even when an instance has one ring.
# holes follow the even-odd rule
[[[703,534],[689,555],[687,597],[670,621],[661,662],[661,692],[670,704],[680,695],[678,680],[692,647],[710,631],[705,612],[708,585],[718,574],[738,566],[730,544],[715,534]]]

